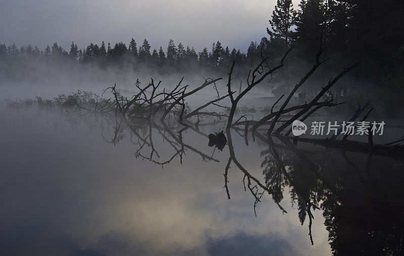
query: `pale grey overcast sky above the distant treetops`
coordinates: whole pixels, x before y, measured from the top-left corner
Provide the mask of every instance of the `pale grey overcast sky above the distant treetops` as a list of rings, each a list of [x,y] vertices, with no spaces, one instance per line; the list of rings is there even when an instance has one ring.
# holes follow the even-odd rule
[[[153,48],[175,43],[210,48],[214,41],[245,52],[266,36],[276,0],[2,0],[0,42],[43,49],[80,48],[101,41],[126,44],[147,38]],[[296,2],[296,1],[294,1]],[[294,5],[297,7],[297,4]]]

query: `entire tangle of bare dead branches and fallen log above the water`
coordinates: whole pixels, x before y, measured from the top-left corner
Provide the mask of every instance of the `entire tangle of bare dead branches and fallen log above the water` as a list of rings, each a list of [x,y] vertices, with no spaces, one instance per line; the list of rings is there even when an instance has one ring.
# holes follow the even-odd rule
[[[373,136],[369,136],[368,143],[365,143],[347,140],[347,134],[345,134],[342,139],[339,140],[337,138],[341,134],[341,129],[338,129],[337,133],[331,138],[325,139],[289,137],[289,134],[291,133],[291,124],[293,121],[304,121],[322,108],[332,108],[344,104],[344,102],[336,102],[333,94],[331,93],[331,88],[348,72],[353,70],[357,66],[357,63],[348,65],[337,76],[331,78],[325,86],[321,87],[319,93],[314,96],[310,102],[305,102],[304,104],[300,105],[290,104],[295,93],[302,88],[302,86],[305,85],[308,79],[318,70],[318,68],[328,60],[321,59],[324,51],[321,44],[316,54],[313,67],[308,70],[306,75],[300,79],[300,81],[293,87],[286,97],[285,94],[283,94],[276,100],[276,102],[272,105],[270,114],[264,116],[260,120],[250,119],[250,115],[241,115],[234,122],[233,119],[239,101],[249,91],[264,81],[264,79],[271,77],[274,72],[283,68],[286,65],[286,58],[292,49],[293,48],[288,49],[283,57],[279,60],[279,63],[274,67],[271,67],[268,64],[268,57],[261,54],[261,62],[254,69],[251,69],[248,72],[246,79],[247,87],[243,90],[240,89],[237,96],[235,96],[236,91],[233,91],[231,88],[232,73],[236,65],[236,62],[233,62],[227,78],[227,93],[224,95],[220,95],[216,86],[216,83],[221,81],[222,78],[207,78],[201,85],[190,89],[189,85],[182,85],[184,80],[184,77],[182,77],[178,84],[176,84],[170,90],[161,88],[162,81],[155,83],[153,79],[150,79],[150,82],[147,85],[142,86],[140,81],[136,80],[134,86],[137,89],[137,93],[132,95],[130,98],[124,97],[120,91],[117,90],[115,84],[114,86],[105,89],[102,94],[104,95],[107,91],[110,91],[112,93],[112,97],[108,99],[100,97],[91,98],[89,97],[90,94],[87,95],[85,93],[77,93],[72,96],[60,97],[56,100],[56,102],[58,106],[61,106],[62,111],[67,114],[67,119],[72,118],[71,116],[68,117],[70,114],[77,116],[85,116],[88,114],[109,116],[108,119],[114,119],[117,121],[117,123],[120,124],[117,127],[120,127],[121,129],[123,125],[131,128],[134,123],[138,122],[139,120],[143,120],[146,122],[152,122],[164,130],[167,130],[168,127],[179,125],[179,133],[181,133],[190,127],[194,127],[195,130],[198,130],[199,126],[226,122],[226,131],[229,131],[232,128],[235,129],[238,126],[243,126],[242,130],[244,131],[246,143],[248,143],[248,132],[252,132],[254,136],[254,133],[257,132],[258,129],[262,130],[265,129],[264,126],[269,126],[266,133],[267,135],[284,136],[292,139],[293,141],[305,141],[323,144],[327,147],[345,147],[347,150],[354,150],[354,148],[356,148],[356,150],[359,151],[367,153],[376,152],[380,153],[381,155],[403,155],[404,152],[402,147],[400,145],[396,145],[396,143],[402,140],[381,145],[374,143]],[[191,110],[187,104],[187,98],[209,87],[216,91],[217,96],[208,100],[207,103]],[[227,97],[230,99],[230,107],[225,107],[220,104],[221,101],[227,99]],[[278,105],[280,105],[280,107],[276,110],[276,106]],[[228,113],[221,113],[208,110],[208,108],[213,106],[229,111]],[[359,116],[368,106],[369,103],[362,107],[359,106],[354,115],[348,119],[348,121],[354,121],[359,118]],[[362,118],[362,121],[369,116],[371,111],[372,109]],[[74,118],[72,118],[72,121],[73,120]],[[209,122],[204,122],[205,120],[209,120]],[[158,121],[160,121],[161,124],[158,124]],[[175,132],[171,131],[170,135],[175,141],[178,142]],[[118,137],[118,134],[116,134],[115,137]],[[192,150],[191,147],[190,149]],[[207,155],[202,156],[203,158],[208,157]]]

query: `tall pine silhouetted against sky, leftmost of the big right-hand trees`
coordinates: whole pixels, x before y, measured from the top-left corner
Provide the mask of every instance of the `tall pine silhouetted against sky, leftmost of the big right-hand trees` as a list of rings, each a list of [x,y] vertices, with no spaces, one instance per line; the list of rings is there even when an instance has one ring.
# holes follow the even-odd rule
[[[278,0],[275,10],[272,12],[271,24],[272,31],[267,28],[271,39],[280,39],[283,47],[289,47],[292,33],[290,30],[296,23],[297,12],[293,9],[292,0]]]

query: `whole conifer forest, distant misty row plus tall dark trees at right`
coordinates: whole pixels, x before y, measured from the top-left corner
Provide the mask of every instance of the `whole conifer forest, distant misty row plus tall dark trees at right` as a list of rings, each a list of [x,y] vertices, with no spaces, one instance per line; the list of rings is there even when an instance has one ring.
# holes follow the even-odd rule
[[[357,74],[364,78],[404,81],[404,1],[398,0],[277,0],[269,20],[267,37],[252,41],[246,52],[223,46],[220,41],[196,52],[192,46],[176,44],[151,49],[147,39],[131,38],[128,44],[90,43],[80,49],[74,42],[63,49],[57,42],[39,49],[36,45],[0,42],[0,59],[25,61],[151,67],[162,73],[206,68],[228,71],[233,60],[252,66],[261,54],[277,58],[291,46],[301,59],[312,60],[320,42],[328,55],[360,61]],[[259,25],[259,24],[258,24]],[[400,80],[401,79],[401,80]]]

